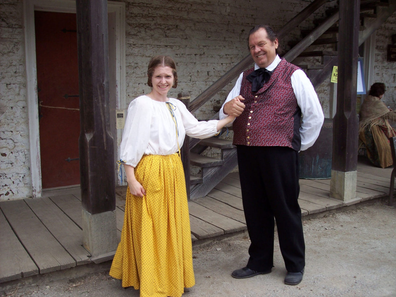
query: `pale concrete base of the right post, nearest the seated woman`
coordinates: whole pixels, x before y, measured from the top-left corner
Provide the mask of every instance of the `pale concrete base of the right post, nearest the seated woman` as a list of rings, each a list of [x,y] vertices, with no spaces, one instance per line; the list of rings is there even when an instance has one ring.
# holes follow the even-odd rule
[[[358,171],[331,170],[330,197],[343,202],[356,198],[357,174]]]

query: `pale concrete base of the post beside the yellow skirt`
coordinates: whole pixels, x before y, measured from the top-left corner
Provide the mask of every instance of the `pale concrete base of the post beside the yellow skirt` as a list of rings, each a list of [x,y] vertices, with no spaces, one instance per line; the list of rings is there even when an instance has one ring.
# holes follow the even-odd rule
[[[116,211],[91,214],[82,210],[84,247],[92,257],[117,249]]]

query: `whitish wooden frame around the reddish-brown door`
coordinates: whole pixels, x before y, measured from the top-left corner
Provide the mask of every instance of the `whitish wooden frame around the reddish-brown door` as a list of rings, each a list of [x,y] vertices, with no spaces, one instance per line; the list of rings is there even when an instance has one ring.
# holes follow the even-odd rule
[[[42,196],[40,133],[38,125],[38,94],[36,39],[34,33],[34,11],[52,11],[76,13],[74,0],[24,0],[24,31],[26,59],[26,93],[29,116],[30,172],[32,178],[32,196]],[[108,1],[109,13],[115,13],[116,34],[116,108],[126,106],[126,71],[125,71],[125,3]],[[115,111],[113,111],[115,112]],[[117,140],[121,139],[121,130],[117,129]],[[118,143],[118,141],[117,141]]]

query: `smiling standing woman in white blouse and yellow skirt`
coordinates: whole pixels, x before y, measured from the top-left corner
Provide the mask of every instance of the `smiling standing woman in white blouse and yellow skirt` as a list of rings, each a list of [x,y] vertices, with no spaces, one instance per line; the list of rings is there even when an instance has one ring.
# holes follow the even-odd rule
[[[195,284],[190,221],[179,151],[185,134],[215,135],[233,117],[198,122],[181,101],[174,61],[155,56],[148,64],[147,95],[129,104],[120,156],[128,190],[124,225],[110,275],[141,297],[179,297]]]

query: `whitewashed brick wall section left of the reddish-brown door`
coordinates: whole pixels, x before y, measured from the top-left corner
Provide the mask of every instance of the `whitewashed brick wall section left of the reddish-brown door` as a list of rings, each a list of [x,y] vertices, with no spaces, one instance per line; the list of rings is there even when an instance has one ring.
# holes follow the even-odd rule
[[[0,200],[31,196],[23,2],[0,2]]]

